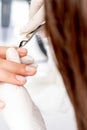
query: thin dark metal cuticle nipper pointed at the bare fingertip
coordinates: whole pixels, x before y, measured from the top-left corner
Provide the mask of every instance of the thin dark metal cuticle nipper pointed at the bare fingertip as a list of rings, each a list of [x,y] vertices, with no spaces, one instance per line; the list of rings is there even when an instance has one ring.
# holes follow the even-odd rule
[[[25,46],[31,39],[32,37],[45,25],[45,22],[43,22],[41,25],[39,25],[35,30],[32,32],[28,33],[26,37],[29,36],[27,40],[22,40],[19,44],[19,48]]]

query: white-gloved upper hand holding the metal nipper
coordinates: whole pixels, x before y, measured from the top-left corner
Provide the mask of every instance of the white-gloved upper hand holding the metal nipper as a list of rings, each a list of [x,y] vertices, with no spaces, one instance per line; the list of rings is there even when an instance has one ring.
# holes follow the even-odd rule
[[[31,0],[30,20],[22,29],[21,34],[28,34],[45,21],[44,0]]]

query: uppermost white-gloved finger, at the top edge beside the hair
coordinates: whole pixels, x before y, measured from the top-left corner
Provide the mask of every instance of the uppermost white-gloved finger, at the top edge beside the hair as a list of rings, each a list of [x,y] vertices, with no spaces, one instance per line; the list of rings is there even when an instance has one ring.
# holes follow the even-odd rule
[[[44,4],[44,0],[32,0],[30,5],[30,19],[38,12],[41,6]]]

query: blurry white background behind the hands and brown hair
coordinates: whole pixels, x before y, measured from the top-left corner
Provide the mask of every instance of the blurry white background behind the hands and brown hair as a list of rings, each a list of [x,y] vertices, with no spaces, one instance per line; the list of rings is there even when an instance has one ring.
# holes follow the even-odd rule
[[[0,45],[18,46],[20,29],[29,21],[30,0],[0,0]],[[27,88],[41,110],[47,130],[76,130],[72,105],[57,71],[47,38],[34,36],[25,46],[38,64],[37,74],[28,77]],[[0,115],[0,130],[10,130]]]

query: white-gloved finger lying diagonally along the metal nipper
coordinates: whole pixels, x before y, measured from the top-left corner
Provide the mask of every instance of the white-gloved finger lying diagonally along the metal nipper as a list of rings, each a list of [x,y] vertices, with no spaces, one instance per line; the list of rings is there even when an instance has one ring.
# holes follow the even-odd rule
[[[28,24],[21,29],[21,34],[28,34],[36,29],[45,19],[44,5],[41,6],[39,11],[34,15]]]

